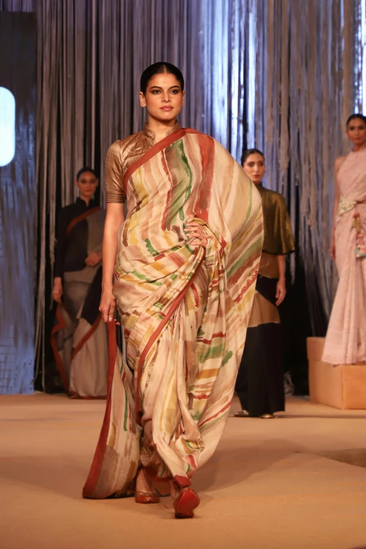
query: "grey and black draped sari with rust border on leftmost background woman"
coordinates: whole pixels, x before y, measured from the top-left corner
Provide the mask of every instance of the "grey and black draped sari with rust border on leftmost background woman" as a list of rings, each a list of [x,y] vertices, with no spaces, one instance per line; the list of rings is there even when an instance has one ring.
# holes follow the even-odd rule
[[[107,330],[99,313],[102,267],[85,259],[102,249],[105,211],[87,210],[67,227],[69,245],[51,345],[65,391],[74,398],[107,396]]]

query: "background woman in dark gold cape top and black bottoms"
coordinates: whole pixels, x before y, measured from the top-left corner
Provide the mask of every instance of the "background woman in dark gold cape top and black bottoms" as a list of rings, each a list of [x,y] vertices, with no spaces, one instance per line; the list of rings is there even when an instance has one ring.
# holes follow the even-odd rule
[[[294,238],[285,200],[265,189],[264,155],[245,151],[242,165],[262,196],[264,243],[243,358],[236,381],[238,417],[273,417],[285,409],[283,359],[278,306],[285,299],[285,254],[294,251]]]

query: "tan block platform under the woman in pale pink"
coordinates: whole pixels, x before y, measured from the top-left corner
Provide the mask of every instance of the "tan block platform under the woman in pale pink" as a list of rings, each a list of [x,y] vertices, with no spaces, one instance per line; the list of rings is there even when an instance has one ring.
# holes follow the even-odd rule
[[[306,340],[311,402],[339,409],[366,409],[366,365],[322,362],[324,337]]]

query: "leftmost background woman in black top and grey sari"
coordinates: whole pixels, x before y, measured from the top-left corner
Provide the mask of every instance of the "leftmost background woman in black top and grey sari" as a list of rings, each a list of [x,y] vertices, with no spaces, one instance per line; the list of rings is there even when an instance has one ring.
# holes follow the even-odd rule
[[[82,168],[80,196],[62,208],[58,221],[53,299],[57,301],[51,345],[62,383],[74,398],[107,395],[107,330],[98,311],[102,282],[105,210],[95,206],[98,179]]]

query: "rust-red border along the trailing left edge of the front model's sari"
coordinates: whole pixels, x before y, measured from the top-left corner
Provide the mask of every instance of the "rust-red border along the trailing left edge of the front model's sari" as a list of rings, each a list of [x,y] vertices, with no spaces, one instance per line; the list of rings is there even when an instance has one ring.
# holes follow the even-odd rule
[[[93,463],[90,467],[88,478],[83,487],[83,498],[90,498],[95,490],[97,481],[102,470],[102,463],[104,460],[104,454],[107,447],[109,422],[111,419],[111,388],[113,384],[114,364],[116,362],[117,355],[117,339],[116,339],[116,325],[114,321],[108,323],[108,396],[107,404],[104,414],[104,420],[102,429],[100,431],[99,439],[97,442],[97,448],[93,458]]]

